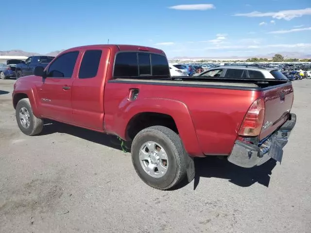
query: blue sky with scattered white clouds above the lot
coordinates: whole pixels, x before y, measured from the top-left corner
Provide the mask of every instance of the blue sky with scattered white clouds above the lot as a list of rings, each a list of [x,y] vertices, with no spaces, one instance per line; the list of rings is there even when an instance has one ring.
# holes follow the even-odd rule
[[[159,48],[169,58],[311,54],[311,0],[15,0],[14,5],[1,3],[0,50],[45,54],[109,39]]]

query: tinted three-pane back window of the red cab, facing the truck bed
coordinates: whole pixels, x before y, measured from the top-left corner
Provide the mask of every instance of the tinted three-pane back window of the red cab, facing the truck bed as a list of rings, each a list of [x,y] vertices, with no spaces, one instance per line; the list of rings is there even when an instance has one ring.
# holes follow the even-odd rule
[[[114,65],[114,78],[155,79],[170,77],[167,58],[148,52],[119,52]]]

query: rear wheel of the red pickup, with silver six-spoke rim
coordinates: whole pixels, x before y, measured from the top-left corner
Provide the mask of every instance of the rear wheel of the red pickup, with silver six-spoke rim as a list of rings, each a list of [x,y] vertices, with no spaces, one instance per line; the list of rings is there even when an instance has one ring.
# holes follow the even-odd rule
[[[158,150],[158,148],[156,149],[156,147],[154,147],[159,154],[160,151],[162,151],[162,149],[165,151],[165,157],[167,158],[167,160],[160,159],[159,164],[161,165],[166,164],[167,167],[166,169],[163,169],[164,166],[159,165],[160,170],[165,170],[164,174],[160,174],[160,172],[162,172],[160,170],[156,171],[159,173],[158,174],[159,177],[155,177],[156,172],[154,173],[153,177],[152,175],[148,174],[148,172],[144,168],[146,164],[150,165],[151,163],[151,166],[155,165],[152,164],[152,158],[150,157],[149,152],[143,150],[144,145],[149,144],[149,142],[151,143],[154,142],[158,147],[161,148],[161,150]],[[148,150],[147,147],[146,149]],[[185,163],[185,156],[187,154],[184,149],[183,143],[180,137],[167,127],[152,126],[140,131],[133,140],[131,153],[132,153],[133,166],[138,176],[144,183],[148,184],[153,188],[160,190],[167,190],[169,188],[172,188],[173,186],[181,182],[187,174]],[[141,157],[140,154],[149,156],[148,162],[147,160],[144,160],[142,162],[141,159],[143,157]],[[154,171],[151,172],[153,173]]]

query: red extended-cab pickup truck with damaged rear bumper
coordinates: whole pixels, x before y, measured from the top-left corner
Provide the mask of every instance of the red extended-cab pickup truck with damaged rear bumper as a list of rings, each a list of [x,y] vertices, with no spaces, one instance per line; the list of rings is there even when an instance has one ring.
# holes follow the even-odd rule
[[[48,118],[117,135],[131,145],[139,177],[162,190],[193,179],[194,157],[280,162],[293,100],[286,80],[171,77],[162,50],[131,45],[63,51],[13,92],[23,133],[39,134]]]

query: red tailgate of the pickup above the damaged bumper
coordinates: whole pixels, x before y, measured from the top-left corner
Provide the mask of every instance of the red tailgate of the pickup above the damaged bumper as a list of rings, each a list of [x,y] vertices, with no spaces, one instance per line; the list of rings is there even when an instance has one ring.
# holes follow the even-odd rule
[[[265,116],[260,139],[276,131],[289,117],[294,100],[292,83],[285,83],[263,89]]]

